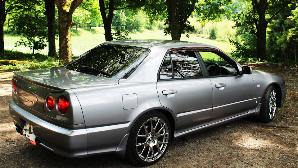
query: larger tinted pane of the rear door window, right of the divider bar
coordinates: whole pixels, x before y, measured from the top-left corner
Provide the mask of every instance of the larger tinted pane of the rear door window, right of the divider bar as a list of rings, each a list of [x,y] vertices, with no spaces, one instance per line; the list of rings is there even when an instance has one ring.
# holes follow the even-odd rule
[[[174,78],[203,76],[199,62],[193,51],[179,51],[171,53]]]

